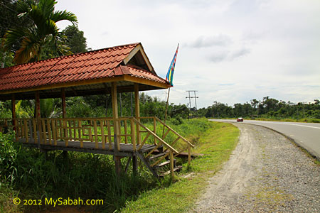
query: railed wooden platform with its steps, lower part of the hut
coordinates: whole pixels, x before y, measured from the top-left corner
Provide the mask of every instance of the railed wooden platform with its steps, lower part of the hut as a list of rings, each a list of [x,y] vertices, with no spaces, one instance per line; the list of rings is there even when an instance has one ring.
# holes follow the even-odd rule
[[[149,124],[149,128],[141,120]],[[157,125],[160,126],[157,128]],[[132,160],[133,171],[137,172],[139,158],[155,177],[160,176],[162,165],[170,165],[174,177],[174,171],[178,169],[174,158],[187,157],[190,165],[193,157],[191,148],[194,145],[156,117],[0,119],[0,131],[6,129],[13,129],[16,141],[23,146],[39,148],[43,152],[60,150],[113,155],[117,174],[121,172],[121,158],[128,157],[124,171]],[[157,129],[161,129],[162,134],[157,134]],[[166,141],[169,136],[170,143]],[[172,141],[172,138],[175,139]]]

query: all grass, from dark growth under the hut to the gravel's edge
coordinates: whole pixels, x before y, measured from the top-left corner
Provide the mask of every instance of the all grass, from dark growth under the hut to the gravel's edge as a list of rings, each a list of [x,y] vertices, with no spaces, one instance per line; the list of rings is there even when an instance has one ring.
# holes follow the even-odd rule
[[[163,180],[154,178],[142,164],[139,175],[129,170],[119,178],[114,174],[110,155],[69,152],[66,161],[61,151],[54,151],[46,158],[36,148],[22,148],[21,144],[13,143],[13,135],[0,133],[0,212],[43,212],[53,208],[16,206],[12,203],[14,197],[104,200],[101,206],[81,207],[93,212],[121,209],[123,212],[181,212],[190,208],[208,177],[228,160],[239,132],[235,126],[207,119],[183,120],[169,126],[196,144],[193,152],[205,154],[193,160],[191,168],[185,164],[176,182],[172,182],[169,175]],[[168,137],[170,141],[172,138]],[[122,165],[126,160],[122,159]],[[195,175],[182,178],[188,173]]]

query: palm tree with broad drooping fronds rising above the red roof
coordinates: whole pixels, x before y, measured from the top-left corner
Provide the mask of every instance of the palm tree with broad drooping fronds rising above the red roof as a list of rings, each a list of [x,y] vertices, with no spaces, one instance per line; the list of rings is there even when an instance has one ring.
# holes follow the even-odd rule
[[[55,4],[55,0],[18,1],[18,17],[26,16],[33,23],[29,28],[11,28],[5,35],[6,50],[13,48],[17,41],[20,44],[14,62],[20,64],[41,60],[44,48],[49,48],[52,53],[58,55],[70,53],[67,45],[64,45],[65,36],[59,31],[56,23],[66,20],[75,24],[78,23],[78,19],[71,12],[55,11]]]

